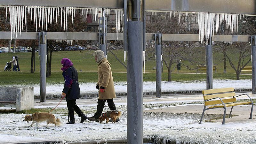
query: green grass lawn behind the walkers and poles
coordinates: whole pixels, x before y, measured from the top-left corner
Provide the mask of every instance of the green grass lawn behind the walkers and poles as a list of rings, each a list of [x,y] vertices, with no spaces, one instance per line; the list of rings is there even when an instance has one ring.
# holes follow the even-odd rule
[[[93,57],[94,51],[61,51],[54,52],[52,54],[52,75],[51,77],[46,79],[47,84],[55,84],[55,83],[63,83],[63,77],[61,74],[61,64],[60,61],[64,57],[68,57],[73,62],[77,71],[79,72],[79,81],[80,82],[95,82],[97,81],[97,64],[94,61]],[[123,50],[113,50],[113,52],[117,55],[117,57],[124,62],[124,51]],[[204,52],[203,52],[204,53]],[[12,56],[19,56],[19,64],[20,70],[24,72],[3,72],[4,65],[7,61],[12,60]],[[214,53],[214,65],[217,65],[218,73],[213,73],[214,79],[231,79],[235,80],[236,75],[234,74],[234,70],[228,65],[228,70],[226,74],[223,74],[223,64],[221,59],[221,54]],[[204,56],[204,55],[203,55]],[[234,56],[235,58],[236,56]],[[217,59],[218,58],[218,59]],[[16,84],[39,84],[40,82],[40,73],[39,73],[39,61],[38,61],[38,53],[36,53],[36,72],[30,73],[30,63],[31,63],[31,53],[0,53],[0,68],[2,71],[0,72],[0,85],[16,85]],[[204,62],[204,57],[201,58]],[[108,61],[111,63],[111,68],[113,72],[114,81],[126,81],[126,69],[122,66],[116,58],[108,53]],[[203,63],[202,62],[202,63]],[[187,63],[184,61],[183,63]],[[155,60],[146,61],[145,71],[143,73],[143,81],[155,81],[156,80],[156,70],[152,70],[152,68],[156,65]],[[195,68],[196,65],[190,65],[190,67]],[[164,65],[164,72],[162,73],[162,80],[167,81],[167,69]],[[124,73],[118,73],[124,72]],[[191,81],[191,80],[206,80],[206,74],[177,74],[175,73],[177,70],[175,69],[174,73],[172,73],[173,81]],[[187,70],[185,67],[181,67],[179,72],[186,73],[196,73],[196,70]],[[241,75],[241,79],[251,79],[251,75]]]

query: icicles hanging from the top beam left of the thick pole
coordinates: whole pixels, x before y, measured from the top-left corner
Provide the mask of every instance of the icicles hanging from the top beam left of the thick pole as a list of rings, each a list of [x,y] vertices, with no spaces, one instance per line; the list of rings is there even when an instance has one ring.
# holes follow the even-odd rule
[[[27,11],[29,14],[29,19],[31,20],[31,24],[34,23],[42,28],[42,31],[49,28],[50,25],[55,25],[60,21],[61,23],[61,31],[67,32],[68,34],[68,20],[70,17],[72,19],[72,27],[74,31],[74,17],[75,14],[80,13],[85,16],[91,15],[93,19],[97,21],[99,16],[99,12],[101,12],[100,8],[77,8],[77,7],[45,7],[45,6],[4,6],[6,8],[6,21],[7,21],[7,7],[9,8],[10,14],[10,25],[11,25],[11,39],[15,36],[17,38],[17,32],[21,34],[23,31],[23,24],[26,25],[27,31]],[[116,37],[119,32],[119,36],[121,35],[121,30],[123,29],[123,10],[122,9],[103,9],[103,15],[108,16],[110,12],[114,12],[116,15]],[[58,16],[58,20],[57,20]],[[8,21],[7,21],[8,22]],[[38,23],[38,24],[37,24]],[[22,30],[21,30],[22,29]]]

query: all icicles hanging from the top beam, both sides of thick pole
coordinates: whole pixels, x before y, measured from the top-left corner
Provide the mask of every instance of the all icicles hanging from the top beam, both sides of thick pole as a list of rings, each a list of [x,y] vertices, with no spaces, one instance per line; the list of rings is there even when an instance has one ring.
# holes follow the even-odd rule
[[[99,13],[103,16],[107,16],[110,12],[114,12],[116,16],[116,37],[121,34],[123,30],[123,9],[101,9],[101,8],[76,8],[76,7],[44,7],[44,6],[5,6],[6,7],[6,22],[7,22],[7,7],[9,8],[10,14],[10,24],[11,24],[11,39],[12,37],[17,38],[17,32],[21,35],[23,30],[23,24],[25,24],[27,31],[27,11],[31,23],[36,26],[42,27],[42,30],[50,27],[50,25],[55,25],[58,21],[61,23],[61,30],[67,32],[68,34],[68,20],[72,19],[72,26],[74,30],[74,16],[76,13],[81,13],[87,17],[93,17],[97,21]],[[103,10],[103,11],[102,11]],[[102,12],[101,12],[102,11]],[[164,17],[168,20],[168,13],[170,13],[170,18],[175,15],[183,16],[181,11],[164,11]],[[188,18],[188,12],[186,17]],[[227,14],[227,13],[207,13],[198,12],[198,29],[199,29],[199,42],[208,44],[210,42],[210,37],[214,36],[214,29],[218,34],[219,24],[226,22],[228,27],[230,27],[231,36],[237,31],[238,27],[238,15],[239,14]],[[240,15],[240,19],[243,15]],[[214,28],[215,27],[215,28]],[[21,30],[22,29],[22,30]],[[205,37],[204,37],[205,35]]]

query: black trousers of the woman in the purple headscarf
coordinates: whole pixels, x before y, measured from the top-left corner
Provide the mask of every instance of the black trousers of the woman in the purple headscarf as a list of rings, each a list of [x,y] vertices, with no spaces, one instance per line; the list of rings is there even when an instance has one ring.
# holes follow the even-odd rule
[[[67,107],[68,107],[68,114],[69,114],[70,120],[75,120],[74,110],[76,111],[79,117],[84,115],[84,113],[76,105],[76,99],[67,101]]]

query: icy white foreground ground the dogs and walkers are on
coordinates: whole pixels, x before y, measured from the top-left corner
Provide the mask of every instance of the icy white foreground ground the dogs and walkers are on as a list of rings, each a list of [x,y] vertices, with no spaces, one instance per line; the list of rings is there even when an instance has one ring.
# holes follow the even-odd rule
[[[184,97],[180,95],[180,97]],[[191,96],[193,99],[194,97]],[[150,100],[151,99],[151,100]],[[165,103],[151,97],[143,99],[143,110],[156,108],[176,107],[175,105],[190,105],[186,103],[173,103],[172,98],[167,96],[162,100]],[[192,100],[191,99],[191,100]],[[57,100],[56,100],[57,101]],[[86,120],[80,124],[80,117],[75,115],[76,124],[63,125],[55,127],[50,124],[44,127],[45,123],[40,123],[39,128],[30,127],[30,123],[24,122],[25,114],[1,114],[0,115],[0,134],[12,134],[16,136],[27,136],[35,138],[45,138],[65,142],[86,141],[86,140],[110,140],[126,139],[127,137],[127,109],[123,102],[125,98],[117,98],[117,110],[122,111],[119,122],[114,123],[96,123]],[[49,101],[51,102],[51,101]],[[91,103],[91,105],[78,105],[87,116],[92,116],[96,111],[96,101],[90,99],[80,99],[79,103]],[[36,103],[39,107],[40,103]],[[49,107],[54,107],[55,103]],[[201,105],[203,106],[203,105]],[[53,114],[67,122],[67,108],[64,105],[53,111]],[[108,110],[108,107],[106,106]],[[105,109],[104,109],[105,111]],[[161,111],[161,110],[160,110]],[[253,122],[226,123],[205,122],[214,117],[222,117],[220,114],[205,114],[203,124],[200,121],[200,113],[165,113],[165,112],[143,112],[143,137],[155,138],[156,140],[191,142],[197,144],[255,144],[256,143],[256,122],[255,113],[253,113]],[[1,137],[1,135],[0,135]],[[0,138],[4,139],[4,138]]]

